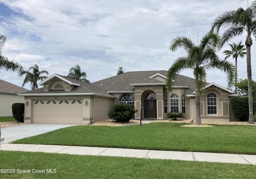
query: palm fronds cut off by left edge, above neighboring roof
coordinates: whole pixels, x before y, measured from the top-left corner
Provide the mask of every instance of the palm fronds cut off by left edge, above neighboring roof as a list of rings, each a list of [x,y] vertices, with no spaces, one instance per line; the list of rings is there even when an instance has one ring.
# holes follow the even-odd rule
[[[9,61],[7,57],[2,54],[2,47],[6,42],[6,36],[0,34],[0,69],[19,71],[22,70],[22,66],[14,61]]]

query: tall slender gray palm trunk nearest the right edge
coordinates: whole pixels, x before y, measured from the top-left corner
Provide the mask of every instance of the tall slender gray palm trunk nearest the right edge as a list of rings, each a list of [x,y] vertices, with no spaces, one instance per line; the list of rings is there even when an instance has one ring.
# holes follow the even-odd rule
[[[252,96],[252,67],[251,67],[251,45],[252,39],[246,37],[246,62],[247,62],[247,78],[248,78],[248,103],[249,103],[249,123],[254,123],[253,119],[253,96]]]

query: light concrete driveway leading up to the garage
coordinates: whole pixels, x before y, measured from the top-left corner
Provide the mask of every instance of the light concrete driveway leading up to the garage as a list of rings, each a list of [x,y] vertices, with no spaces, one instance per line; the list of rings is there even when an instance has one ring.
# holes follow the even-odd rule
[[[78,124],[24,124],[8,128],[1,128],[1,138],[4,141],[1,144],[6,144],[14,140],[36,136],[60,128],[69,126],[78,126]]]

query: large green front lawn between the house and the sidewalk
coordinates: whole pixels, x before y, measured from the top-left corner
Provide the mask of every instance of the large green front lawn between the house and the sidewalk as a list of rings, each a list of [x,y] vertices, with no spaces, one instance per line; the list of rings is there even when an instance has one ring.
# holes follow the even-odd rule
[[[256,154],[256,126],[180,127],[183,124],[72,126],[12,143]]]

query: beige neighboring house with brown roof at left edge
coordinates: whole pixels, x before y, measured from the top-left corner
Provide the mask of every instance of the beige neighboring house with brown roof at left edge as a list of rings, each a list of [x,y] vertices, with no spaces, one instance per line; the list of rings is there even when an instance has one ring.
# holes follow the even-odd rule
[[[12,104],[24,103],[24,96],[17,94],[29,90],[0,79],[0,116],[12,116]]]

